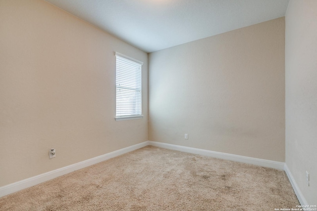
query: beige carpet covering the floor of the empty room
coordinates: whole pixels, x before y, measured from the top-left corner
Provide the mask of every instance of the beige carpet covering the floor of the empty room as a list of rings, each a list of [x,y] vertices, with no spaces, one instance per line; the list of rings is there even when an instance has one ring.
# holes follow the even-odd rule
[[[1,211],[274,211],[284,171],[147,146],[0,198]]]

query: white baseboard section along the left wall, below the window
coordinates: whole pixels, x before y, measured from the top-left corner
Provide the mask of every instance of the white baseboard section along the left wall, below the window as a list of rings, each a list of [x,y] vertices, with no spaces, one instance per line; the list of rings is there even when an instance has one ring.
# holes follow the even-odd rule
[[[67,167],[63,167],[60,169],[55,169],[40,175],[36,175],[27,179],[23,179],[18,182],[14,182],[5,186],[0,187],[0,197],[6,196],[8,194],[14,193],[19,190],[23,190],[25,188],[31,187],[33,185],[40,184],[42,182],[48,181],[50,179],[56,178],[58,176],[62,176],[66,173],[70,173],[72,171],[78,170],[78,169],[83,169],[85,167],[100,163],[102,161],[106,161],[110,158],[114,158],[116,156],[131,152],[133,150],[142,148],[149,145],[149,141],[145,141],[139,144],[135,144],[133,146],[129,146],[123,149],[119,149],[110,153],[107,153],[105,155],[101,155],[92,159],[88,159],[86,161],[82,161]]]

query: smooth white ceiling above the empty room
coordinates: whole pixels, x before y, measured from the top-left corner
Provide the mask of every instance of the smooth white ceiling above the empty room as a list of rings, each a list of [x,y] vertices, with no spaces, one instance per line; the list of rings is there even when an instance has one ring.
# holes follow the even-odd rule
[[[46,0],[146,52],[285,16],[289,0]]]

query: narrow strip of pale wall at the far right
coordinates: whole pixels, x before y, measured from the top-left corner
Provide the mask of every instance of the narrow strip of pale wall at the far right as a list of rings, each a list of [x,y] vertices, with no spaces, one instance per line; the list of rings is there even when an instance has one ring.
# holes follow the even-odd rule
[[[317,1],[291,0],[285,22],[286,165],[317,205]]]

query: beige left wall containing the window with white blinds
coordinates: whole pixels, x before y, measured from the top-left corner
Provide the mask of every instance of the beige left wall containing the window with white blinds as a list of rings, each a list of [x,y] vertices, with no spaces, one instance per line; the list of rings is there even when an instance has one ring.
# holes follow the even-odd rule
[[[114,120],[115,51],[144,62],[141,120]],[[147,59],[44,0],[0,0],[0,186],[147,141]]]

